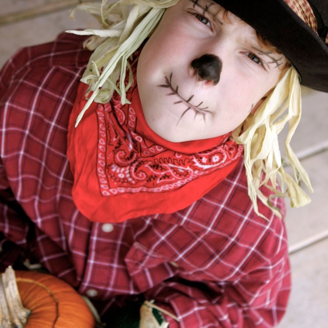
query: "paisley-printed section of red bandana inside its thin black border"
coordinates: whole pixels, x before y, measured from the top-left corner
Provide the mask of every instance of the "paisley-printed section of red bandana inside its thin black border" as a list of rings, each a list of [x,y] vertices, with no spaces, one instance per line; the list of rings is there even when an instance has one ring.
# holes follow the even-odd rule
[[[97,176],[103,196],[174,190],[232,163],[242,153],[232,141],[192,155],[147,142],[135,132],[134,106],[122,106],[117,98],[112,106],[98,105],[96,114]]]

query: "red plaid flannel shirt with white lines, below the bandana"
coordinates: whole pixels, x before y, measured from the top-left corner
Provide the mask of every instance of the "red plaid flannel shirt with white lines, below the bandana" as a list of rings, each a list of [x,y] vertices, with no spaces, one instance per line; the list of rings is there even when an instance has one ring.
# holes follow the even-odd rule
[[[286,230],[263,205],[269,222],[254,213],[242,160],[170,215],[100,224],[74,206],[67,124],[89,56],[81,37],[62,34],[2,70],[1,270],[38,261],[102,319],[142,294],[180,319],[167,317],[170,328],[276,326],[290,293]]]

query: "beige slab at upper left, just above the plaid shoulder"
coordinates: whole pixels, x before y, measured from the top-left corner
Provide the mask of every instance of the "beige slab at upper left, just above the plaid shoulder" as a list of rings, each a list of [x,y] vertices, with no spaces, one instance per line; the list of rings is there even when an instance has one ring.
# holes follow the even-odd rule
[[[0,67],[21,47],[52,41],[57,34],[68,29],[99,27],[92,15],[77,11],[74,22],[70,18],[70,12],[71,10],[61,10],[0,27]]]

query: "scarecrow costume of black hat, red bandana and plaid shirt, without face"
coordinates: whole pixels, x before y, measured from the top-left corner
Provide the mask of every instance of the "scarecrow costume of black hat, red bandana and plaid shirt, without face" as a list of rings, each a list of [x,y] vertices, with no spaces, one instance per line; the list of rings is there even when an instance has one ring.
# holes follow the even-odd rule
[[[327,1],[215,2],[272,42],[301,83],[328,92]],[[41,263],[108,327],[133,327],[119,320],[143,300],[162,309],[162,327],[277,326],[291,286],[283,191],[259,181],[261,201],[251,199],[245,131],[161,138],[135,78],[146,41],[128,56],[121,87],[106,79],[101,88],[80,82],[86,67],[99,73],[88,40],[60,34],[1,72],[1,270]]]

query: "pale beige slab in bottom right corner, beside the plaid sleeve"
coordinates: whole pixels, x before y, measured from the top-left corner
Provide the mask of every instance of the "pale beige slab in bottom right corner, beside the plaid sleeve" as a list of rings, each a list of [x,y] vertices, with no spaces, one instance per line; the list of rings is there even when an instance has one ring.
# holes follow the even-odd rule
[[[328,327],[328,239],[291,256],[293,289],[279,328]]]

